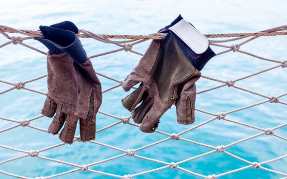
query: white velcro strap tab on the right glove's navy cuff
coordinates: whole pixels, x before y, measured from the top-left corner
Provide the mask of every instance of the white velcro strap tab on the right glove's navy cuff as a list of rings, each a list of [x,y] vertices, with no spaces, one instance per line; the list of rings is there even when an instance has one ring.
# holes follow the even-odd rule
[[[181,19],[169,29],[184,41],[195,53],[202,54],[208,49],[208,39],[185,19]]]

